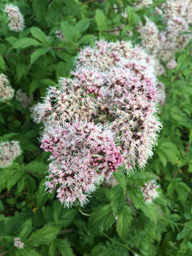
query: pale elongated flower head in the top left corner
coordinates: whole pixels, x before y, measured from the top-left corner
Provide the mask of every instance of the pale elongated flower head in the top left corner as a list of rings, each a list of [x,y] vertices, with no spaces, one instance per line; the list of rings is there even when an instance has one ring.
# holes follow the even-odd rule
[[[19,11],[17,6],[12,4],[6,5],[5,12],[9,18],[9,28],[11,31],[23,31],[24,29],[24,19],[23,15]]]

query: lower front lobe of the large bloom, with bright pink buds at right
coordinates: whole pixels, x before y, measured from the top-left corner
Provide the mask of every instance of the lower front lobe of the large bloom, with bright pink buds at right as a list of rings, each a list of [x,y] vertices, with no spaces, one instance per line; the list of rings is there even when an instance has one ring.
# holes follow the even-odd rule
[[[110,178],[122,164],[112,132],[92,122],[66,123],[46,129],[41,148],[50,151],[48,169],[50,192],[57,188],[61,203],[82,206],[103,178]]]

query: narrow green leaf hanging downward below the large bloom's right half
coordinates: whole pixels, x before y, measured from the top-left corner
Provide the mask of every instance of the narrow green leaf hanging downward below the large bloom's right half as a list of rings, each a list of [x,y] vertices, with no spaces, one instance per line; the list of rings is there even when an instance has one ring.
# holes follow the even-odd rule
[[[132,210],[124,205],[117,220],[117,233],[122,240],[126,240],[132,223]]]

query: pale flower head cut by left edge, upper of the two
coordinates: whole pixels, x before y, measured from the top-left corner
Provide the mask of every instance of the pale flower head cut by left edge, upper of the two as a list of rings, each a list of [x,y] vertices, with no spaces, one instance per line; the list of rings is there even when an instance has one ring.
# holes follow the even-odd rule
[[[0,75],[0,102],[11,100],[14,97],[14,89],[10,86],[6,75]]]

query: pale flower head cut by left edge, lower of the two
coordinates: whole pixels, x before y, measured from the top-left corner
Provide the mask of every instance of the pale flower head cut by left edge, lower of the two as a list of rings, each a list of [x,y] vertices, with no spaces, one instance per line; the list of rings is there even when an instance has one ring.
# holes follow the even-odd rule
[[[0,144],[0,168],[10,166],[17,156],[21,155],[19,142],[1,142]]]

